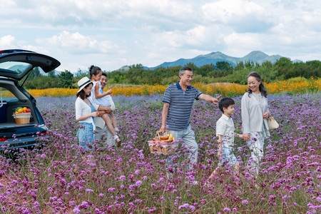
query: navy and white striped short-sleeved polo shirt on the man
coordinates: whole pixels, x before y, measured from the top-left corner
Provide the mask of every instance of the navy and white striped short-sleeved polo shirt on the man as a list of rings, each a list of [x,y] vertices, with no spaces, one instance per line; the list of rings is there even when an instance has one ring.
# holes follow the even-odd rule
[[[188,128],[190,112],[193,103],[198,100],[202,92],[194,86],[188,86],[186,91],[180,87],[179,82],[169,85],[164,93],[163,102],[169,103],[166,127],[171,131],[180,131]]]

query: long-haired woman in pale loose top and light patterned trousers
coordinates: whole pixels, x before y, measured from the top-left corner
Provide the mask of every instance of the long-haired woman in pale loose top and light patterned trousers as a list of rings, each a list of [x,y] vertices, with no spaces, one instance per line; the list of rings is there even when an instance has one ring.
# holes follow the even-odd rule
[[[270,136],[266,119],[270,116],[267,91],[260,75],[253,71],[248,75],[248,92],[241,101],[243,138],[251,150],[250,168],[258,176],[263,157],[264,139]]]

